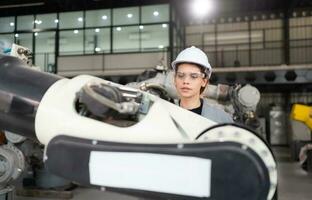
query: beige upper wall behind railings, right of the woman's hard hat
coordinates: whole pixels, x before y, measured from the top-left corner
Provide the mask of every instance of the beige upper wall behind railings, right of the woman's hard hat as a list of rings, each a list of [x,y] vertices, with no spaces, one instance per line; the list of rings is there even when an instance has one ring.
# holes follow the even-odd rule
[[[229,17],[186,27],[186,46],[198,46],[215,67],[280,65],[285,61],[283,17]],[[312,17],[289,19],[290,64],[312,63]]]

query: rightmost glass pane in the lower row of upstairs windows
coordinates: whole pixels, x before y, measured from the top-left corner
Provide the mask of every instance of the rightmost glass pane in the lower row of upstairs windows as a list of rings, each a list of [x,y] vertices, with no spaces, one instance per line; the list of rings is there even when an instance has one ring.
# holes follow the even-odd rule
[[[168,27],[159,25],[140,26],[142,51],[164,49],[169,46]]]

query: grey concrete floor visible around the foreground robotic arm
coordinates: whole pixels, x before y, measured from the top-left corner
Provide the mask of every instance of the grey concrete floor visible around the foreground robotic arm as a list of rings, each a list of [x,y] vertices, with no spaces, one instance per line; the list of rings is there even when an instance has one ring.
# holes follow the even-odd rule
[[[288,148],[275,147],[274,154],[278,160],[279,188],[278,200],[312,200],[312,174],[291,161]],[[78,188],[74,190],[71,200],[139,200],[139,198],[102,192],[95,189]],[[51,198],[16,197],[15,200],[57,200]],[[142,200],[142,199],[141,199]]]

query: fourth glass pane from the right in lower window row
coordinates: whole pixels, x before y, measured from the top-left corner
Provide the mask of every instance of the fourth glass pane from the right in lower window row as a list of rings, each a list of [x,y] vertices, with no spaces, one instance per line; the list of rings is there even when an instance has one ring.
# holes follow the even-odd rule
[[[83,30],[60,31],[60,55],[83,54]]]

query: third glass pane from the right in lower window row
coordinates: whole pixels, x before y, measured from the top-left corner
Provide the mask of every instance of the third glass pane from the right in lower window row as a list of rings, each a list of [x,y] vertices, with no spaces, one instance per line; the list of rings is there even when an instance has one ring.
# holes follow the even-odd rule
[[[110,52],[110,29],[94,28],[85,30],[85,53]]]

